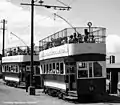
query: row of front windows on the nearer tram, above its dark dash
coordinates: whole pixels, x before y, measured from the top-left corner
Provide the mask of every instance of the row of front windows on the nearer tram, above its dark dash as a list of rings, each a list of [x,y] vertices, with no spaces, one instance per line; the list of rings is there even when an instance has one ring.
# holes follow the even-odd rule
[[[77,62],[77,79],[102,77],[103,66],[101,62]]]

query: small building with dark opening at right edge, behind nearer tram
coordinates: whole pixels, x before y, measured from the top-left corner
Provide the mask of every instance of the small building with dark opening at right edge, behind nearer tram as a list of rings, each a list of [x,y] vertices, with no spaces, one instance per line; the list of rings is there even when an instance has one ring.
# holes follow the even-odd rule
[[[120,53],[107,53],[106,66],[110,93],[116,94],[120,82]]]

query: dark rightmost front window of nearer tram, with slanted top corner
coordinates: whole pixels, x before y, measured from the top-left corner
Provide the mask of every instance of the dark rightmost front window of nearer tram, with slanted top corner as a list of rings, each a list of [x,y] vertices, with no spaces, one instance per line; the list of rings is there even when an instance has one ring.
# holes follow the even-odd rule
[[[98,62],[93,63],[94,77],[102,76],[102,66]]]

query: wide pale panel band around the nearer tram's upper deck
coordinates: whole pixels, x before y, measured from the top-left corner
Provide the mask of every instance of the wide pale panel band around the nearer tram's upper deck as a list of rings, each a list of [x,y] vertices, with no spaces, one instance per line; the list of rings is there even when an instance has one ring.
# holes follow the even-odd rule
[[[105,45],[103,43],[65,44],[41,51],[39,60],[87,53],[106,54]]]

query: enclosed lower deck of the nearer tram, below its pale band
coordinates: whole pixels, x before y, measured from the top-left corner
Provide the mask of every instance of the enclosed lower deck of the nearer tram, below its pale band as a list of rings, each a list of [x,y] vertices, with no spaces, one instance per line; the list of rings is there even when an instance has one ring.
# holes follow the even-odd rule
[[[100,59],[97,55],[96,57],[89,57],[92,56],[91,54],[86,55],[89,61],[83,56],[41,61],[40,69],[43,71],[41,75],[45,93],[59,97],[105,93],[105,61],[101,59],[105,55],[98,55],[101,56]]]

